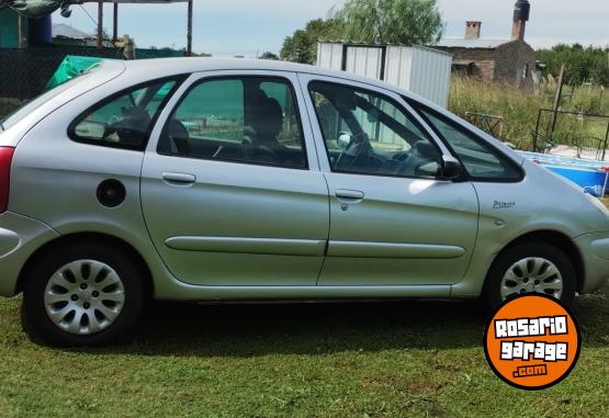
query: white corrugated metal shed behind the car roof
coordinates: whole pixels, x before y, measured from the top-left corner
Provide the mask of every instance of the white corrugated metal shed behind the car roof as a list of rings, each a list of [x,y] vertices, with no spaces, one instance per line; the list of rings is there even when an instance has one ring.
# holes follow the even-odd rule
[[[386,81],[448,106],[452,55],[421,46],[319,42],[317,66]]]

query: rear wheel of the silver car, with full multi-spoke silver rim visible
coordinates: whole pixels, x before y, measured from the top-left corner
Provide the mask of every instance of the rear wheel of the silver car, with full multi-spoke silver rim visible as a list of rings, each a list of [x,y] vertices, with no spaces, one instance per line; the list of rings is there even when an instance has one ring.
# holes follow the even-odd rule
[[[135,327],[145,274],[123,248],[83,244],[44,252],[24,276],[23,326],[60,347],[114,343]]]

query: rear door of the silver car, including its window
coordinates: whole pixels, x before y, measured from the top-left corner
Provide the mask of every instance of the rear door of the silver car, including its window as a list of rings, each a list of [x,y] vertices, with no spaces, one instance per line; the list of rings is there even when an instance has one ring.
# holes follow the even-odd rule
[[[179,280],[316,284],[328,190],[294,82],[277,71],[194,75],[163,112],[144,158],[142,205]]]

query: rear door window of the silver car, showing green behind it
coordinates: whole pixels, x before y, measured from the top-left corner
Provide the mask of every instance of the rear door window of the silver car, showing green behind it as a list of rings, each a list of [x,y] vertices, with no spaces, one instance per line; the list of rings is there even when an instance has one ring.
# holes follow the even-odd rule
[[[185,93],[158,145],[165,155],[306,169],[298,108],[279,77],[204,79]]]

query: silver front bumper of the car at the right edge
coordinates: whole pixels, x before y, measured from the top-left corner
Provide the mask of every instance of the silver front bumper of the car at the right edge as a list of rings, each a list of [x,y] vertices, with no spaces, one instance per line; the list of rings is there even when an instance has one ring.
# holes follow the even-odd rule
[[[582,294],[602,287],[609,279],[609,233],[586,234],[574,240],[584,260]]]

